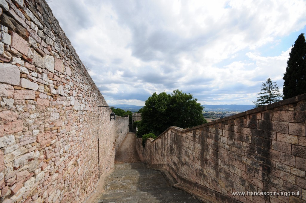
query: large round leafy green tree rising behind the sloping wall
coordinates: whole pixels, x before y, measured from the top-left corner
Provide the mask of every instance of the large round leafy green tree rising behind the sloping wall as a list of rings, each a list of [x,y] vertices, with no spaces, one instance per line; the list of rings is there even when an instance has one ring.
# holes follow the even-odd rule
[[[207,123],[202,111],[203,107],[192,94],[180,90],[174,90],[172,94],[155,92],[145,101],[137,136],[148,133],[159,135],[170,126],[189,128]]]

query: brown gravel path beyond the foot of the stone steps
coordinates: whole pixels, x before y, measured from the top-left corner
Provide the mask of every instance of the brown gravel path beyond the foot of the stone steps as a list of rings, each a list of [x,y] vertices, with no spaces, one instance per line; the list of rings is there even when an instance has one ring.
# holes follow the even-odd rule
[[[115,155],[115,164],[140,162],[136,152],[136,134],[129,132]]]

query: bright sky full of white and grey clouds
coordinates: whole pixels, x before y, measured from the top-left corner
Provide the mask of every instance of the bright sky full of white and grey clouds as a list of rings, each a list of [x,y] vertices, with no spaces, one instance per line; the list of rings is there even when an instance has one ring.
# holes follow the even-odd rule
[[[282,93],[305,0],[47,0],[108,105],[179,89],[202,105]]]

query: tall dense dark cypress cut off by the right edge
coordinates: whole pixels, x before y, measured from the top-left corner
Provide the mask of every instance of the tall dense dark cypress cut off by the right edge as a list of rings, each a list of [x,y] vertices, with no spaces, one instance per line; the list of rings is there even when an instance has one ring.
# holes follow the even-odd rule
[[[306,42],[304,33],[292,45],[284,74],[284,99],[306,93]]]

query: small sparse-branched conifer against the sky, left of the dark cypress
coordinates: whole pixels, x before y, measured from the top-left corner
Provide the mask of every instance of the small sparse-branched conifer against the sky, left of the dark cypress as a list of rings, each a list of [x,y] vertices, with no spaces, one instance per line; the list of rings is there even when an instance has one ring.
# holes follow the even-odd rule
[[[279,87],[276,85],[276,82],[272,82],[268,78],[261,86],[261,91],[258,94],[257,101],[253,101],[256,107],[268,105],[277,101],[281,101],[282,95],[279,93]]]

